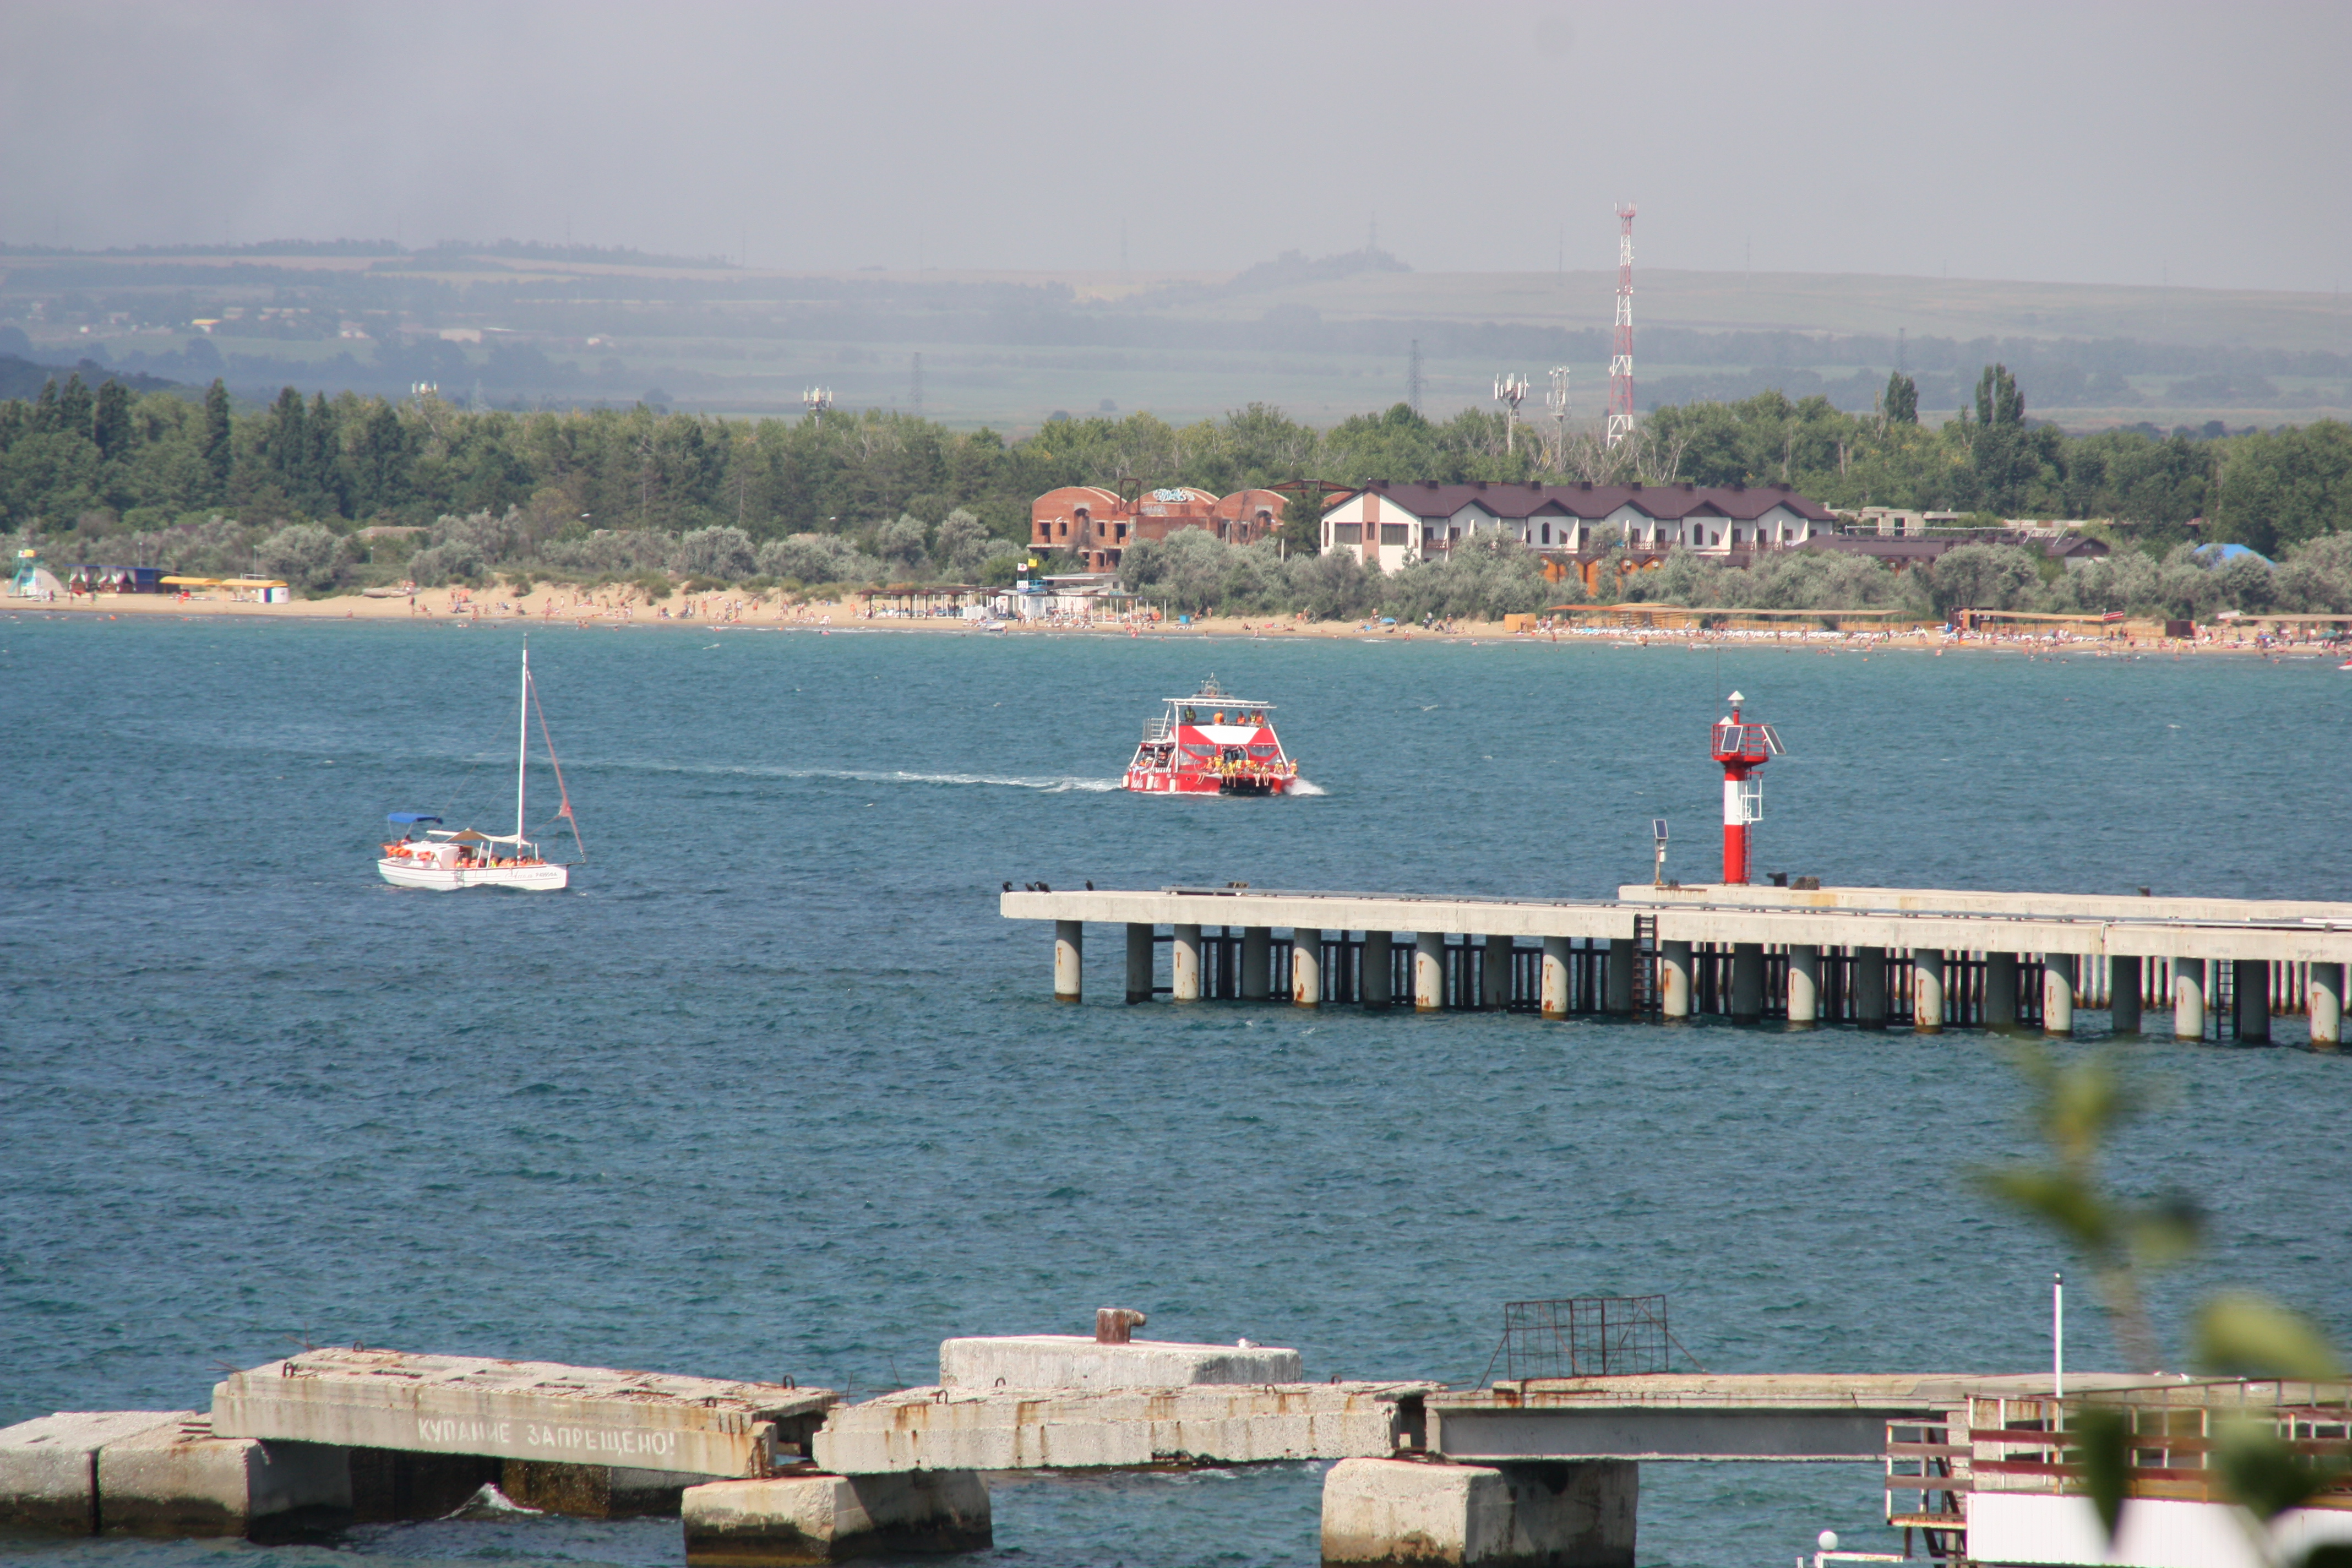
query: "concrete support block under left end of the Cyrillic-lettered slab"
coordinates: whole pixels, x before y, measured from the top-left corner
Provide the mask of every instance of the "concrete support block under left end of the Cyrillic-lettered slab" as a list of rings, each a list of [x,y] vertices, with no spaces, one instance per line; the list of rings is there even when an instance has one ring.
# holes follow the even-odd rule
[[[343,1448],[214,1436],[193,1410],[99,1448],[106,1535],[275,1535],[348,1521]]]

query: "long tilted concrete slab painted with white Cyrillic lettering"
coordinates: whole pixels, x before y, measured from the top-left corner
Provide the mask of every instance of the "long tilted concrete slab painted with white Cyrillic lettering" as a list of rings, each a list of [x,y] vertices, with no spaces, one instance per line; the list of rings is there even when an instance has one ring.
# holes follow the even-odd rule
[[[807,1453],[835,1396],[774,1382],[553,1361],[306,1349],[221,1380],[221,1436],[764,1476]]]

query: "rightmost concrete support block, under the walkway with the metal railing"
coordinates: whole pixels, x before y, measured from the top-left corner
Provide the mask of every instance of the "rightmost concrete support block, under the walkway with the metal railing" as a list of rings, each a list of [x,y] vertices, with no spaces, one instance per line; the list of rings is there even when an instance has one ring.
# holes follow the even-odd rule
[[[1341,1460],[1324,1476],[1322,1561],[1632,1568],[1639,1467]]]

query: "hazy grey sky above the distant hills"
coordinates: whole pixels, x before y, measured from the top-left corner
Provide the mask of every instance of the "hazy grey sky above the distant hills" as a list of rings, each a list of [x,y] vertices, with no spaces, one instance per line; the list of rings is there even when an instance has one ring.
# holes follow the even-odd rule
[[[2352,282],[2352,5],[9,0],[0,240]]]

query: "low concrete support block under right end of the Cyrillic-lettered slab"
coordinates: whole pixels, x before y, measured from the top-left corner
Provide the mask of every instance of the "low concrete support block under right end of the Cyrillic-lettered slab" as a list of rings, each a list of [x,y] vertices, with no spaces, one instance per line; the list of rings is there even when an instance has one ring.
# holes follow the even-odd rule
[[[988,1483],[969,1469],[713,1481],[687,1490],[680,1516],[694,1568],[781,1568],[995,1544]]]

